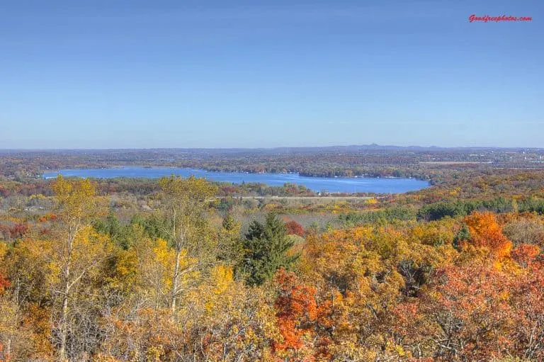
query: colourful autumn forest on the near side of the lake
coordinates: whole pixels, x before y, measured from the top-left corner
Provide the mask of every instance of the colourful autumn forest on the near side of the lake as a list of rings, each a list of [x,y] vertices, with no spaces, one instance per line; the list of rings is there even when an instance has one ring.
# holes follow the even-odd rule
[[[347,200],[4,175],[0,361],[544,361],[544,171],[425,167]]]

